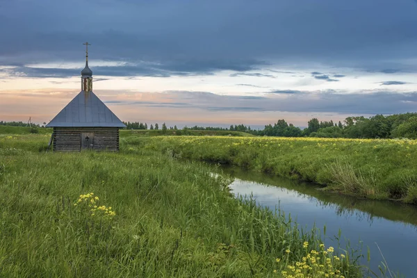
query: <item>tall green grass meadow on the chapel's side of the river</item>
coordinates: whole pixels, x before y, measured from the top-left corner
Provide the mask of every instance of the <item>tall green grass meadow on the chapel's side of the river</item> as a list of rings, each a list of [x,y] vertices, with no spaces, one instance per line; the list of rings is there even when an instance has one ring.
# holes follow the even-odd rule
[[[44,152],[48,140],[0,135],[4,277],[363,277],[352,250],[232,198],[167,137],[122,138],[116,154]]]

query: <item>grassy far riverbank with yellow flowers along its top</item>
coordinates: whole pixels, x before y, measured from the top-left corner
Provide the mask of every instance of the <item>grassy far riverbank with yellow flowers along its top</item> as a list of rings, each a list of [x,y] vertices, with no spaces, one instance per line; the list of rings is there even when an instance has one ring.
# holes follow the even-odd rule
[[[127,138],[174,157],[238,165],[369,199],[417,204],[417,141],[326,138]]]

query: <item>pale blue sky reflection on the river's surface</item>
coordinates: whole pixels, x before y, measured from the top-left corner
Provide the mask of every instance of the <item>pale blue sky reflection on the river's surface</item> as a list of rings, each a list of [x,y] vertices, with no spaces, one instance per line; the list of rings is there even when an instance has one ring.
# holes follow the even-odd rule
[[[417,228],[414,225],[372,217],[356,209],[341,211],[337,204],[325,205],[315,197],[277,186],[236,179],[230,188],[235,195],[250,196],[252,193],[257,203],[268,206],[272,211],[279,206],[286,215],[291,213],[291,218],[297,219],[300,227],[311,229],[316,223],[322,231],[326,225],[327,245],[334,245],[330,238],[337,236],[339,229],[342,230],[342,238],[350,240],[352,246],[357,246],[362,240],[363,263],[366,263],[366,246],[369,246],[374,271],[383,260],[375,245],[377,243],[391,271],[400,271],[406,277],[417,277]],[[345,247],[345,241],[341,241],[341,247]]]

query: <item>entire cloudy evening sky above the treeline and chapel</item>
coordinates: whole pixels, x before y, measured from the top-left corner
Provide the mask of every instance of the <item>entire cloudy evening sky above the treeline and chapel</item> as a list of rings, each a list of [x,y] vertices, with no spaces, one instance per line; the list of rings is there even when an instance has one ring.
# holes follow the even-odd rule
[[[0,0],[0,120],[81,90],[120,120],[261,127],[417,111],[417,0]]]

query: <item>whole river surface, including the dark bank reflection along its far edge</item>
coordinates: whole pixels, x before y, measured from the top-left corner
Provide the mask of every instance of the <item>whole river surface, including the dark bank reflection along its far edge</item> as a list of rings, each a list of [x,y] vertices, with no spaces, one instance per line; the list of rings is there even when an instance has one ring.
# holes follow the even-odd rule
[[[328,193],[311,183],[238,167],[222,170],[235,178],[229,186],[234,195],[252,194],[258,204],[272,211],[279,206],[286,215],[291,213],[300,227],[311,229],[316,224],[321,231],[326,227],[326,245],[336,245],[334,236],[341,229],[341,247],[347,241],[352,247],[362,246],[362,263],[371,270],[378,272],[383,255],[391,272],[417,277],[417,206]]]

